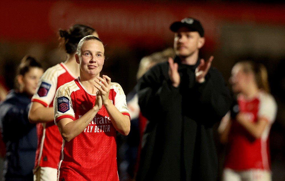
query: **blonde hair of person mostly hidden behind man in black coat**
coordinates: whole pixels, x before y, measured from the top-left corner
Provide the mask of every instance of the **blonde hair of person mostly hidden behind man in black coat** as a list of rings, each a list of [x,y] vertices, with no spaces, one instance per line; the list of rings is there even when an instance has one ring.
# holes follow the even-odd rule
[[[145,56],[141,59],[139,64],[139,69],[137,72],[137,79],[141,78],[148,69],[154,66],[157,63],[165,62],[168,60],[168,57],[174,57],[175,52],[173,48],[166,48],[161,52],[155,52],[148,56]]]

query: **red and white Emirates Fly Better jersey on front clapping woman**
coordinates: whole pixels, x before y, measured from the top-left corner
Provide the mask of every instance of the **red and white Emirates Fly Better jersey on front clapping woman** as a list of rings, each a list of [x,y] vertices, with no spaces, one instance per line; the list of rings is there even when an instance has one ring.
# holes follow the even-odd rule
[[[109,99],[123,115],[130,116],[119,84],[111,83]],[[96,95],[87,92],[79,78],[66,83],[54,98],[55,122],[77,120],[93,108],[95,100]],[[63,141],[58,180],[119,180],[116,155],[116,129],[103,105],[82,133]]]

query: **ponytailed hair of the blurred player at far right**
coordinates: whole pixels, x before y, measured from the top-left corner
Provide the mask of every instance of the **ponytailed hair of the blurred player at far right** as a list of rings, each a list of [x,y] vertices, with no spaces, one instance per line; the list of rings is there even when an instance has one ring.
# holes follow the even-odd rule
[[[258,89],[270,93],[268,74],[266,67],[263,64],[255,63],[253,61],[241,61],[238,62],[237,65],[241,65],[243,72],[253,73]]]

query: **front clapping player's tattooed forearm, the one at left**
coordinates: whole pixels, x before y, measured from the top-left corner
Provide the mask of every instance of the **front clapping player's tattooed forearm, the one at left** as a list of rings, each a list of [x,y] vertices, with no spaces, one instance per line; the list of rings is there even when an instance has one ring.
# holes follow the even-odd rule
[[[59,126],[60,134],[65,141],[70,141],[76,136],[78,136],[84,129],[88,126],[88,124],[93,120],[97,112],[98,108],[93,108],[86,112],[82,117],[75,121],[71,121],[64,126]],[[59,120],[61,121],[61,120]],[[59,124],[59,123],[58,123]]]

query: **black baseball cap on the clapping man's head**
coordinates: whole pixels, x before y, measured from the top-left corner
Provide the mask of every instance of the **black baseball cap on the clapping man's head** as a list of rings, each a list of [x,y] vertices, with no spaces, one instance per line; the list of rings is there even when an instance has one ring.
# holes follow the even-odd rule
[[[187,27],[191,31],[197,31],[201,37],[204,36],[204,29],[199,20],[194,18],[184,18],[181,21],[176,21],[170,25],[170,30],[177,32],[179,28]]]

